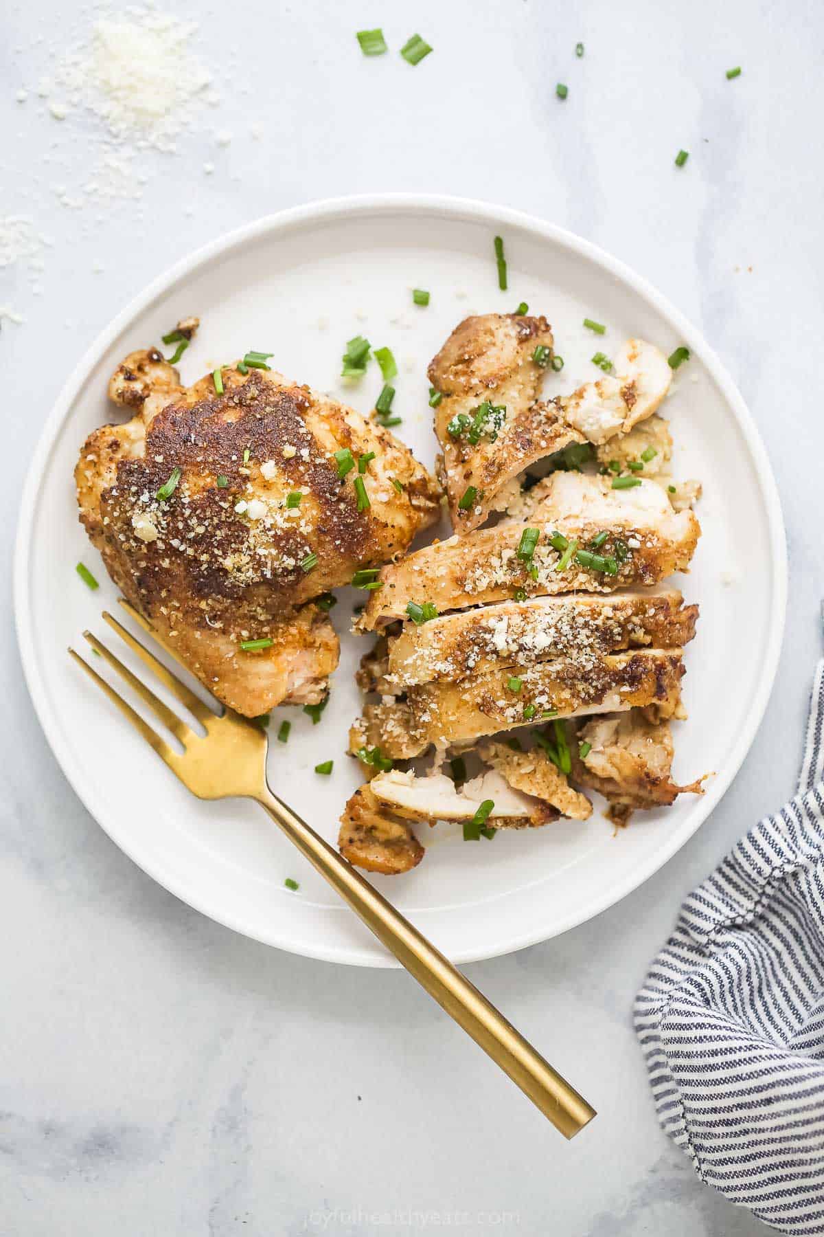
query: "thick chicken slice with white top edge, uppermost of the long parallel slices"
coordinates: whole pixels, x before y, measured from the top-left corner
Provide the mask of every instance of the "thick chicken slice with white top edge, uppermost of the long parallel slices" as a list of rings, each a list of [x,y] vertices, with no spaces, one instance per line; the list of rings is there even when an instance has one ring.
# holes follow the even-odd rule
[[[652,585],[689,567],[700,524],[691,511],[675,513],[656,481],[613,490],[609,477],[553,473],[530,491],[524,522],[502,521],[465,537],[450,537],[383,568],[361,616],[359,631],[372,631],[403,618],[410,601],[432,602],[444,614],[511,597],[555,595],[584,589],[614,593],[631,585]],[[526,527],[540,529],[529,562],[518,549]],[[608,532],[598,553],[615,557],[618,571],[608,575],[568,558],[549,538],[561,533],[577,548]],[[618,555],[623,555],[618,562]]]

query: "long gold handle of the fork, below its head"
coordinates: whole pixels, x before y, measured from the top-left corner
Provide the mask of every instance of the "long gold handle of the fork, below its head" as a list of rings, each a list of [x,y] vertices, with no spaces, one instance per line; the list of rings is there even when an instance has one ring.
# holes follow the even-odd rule
[[[566,1138],[595,1110],[536,1053],[520,1032],[352,865],[271,790],[256,797],[287,837],[335,888],[442,1009],[500,1065]]]

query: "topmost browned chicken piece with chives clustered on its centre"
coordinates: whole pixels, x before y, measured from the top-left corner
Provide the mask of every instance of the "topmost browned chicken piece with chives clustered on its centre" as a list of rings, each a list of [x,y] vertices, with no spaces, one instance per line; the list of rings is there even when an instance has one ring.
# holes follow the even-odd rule
[[[555,404],[536,402],[551,356],[546,318],[489,313],[460,323],[430,362],[442,396],[435,433],[455,529],[468,532],[504,508],[528,465],[583,442]]]

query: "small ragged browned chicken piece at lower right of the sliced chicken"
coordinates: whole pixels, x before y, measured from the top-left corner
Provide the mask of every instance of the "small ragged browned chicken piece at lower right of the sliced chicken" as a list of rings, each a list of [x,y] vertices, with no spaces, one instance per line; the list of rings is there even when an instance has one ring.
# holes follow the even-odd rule
[[[625,825],[634,808],[668,807],[679,794],[704,793],[704,778],[688,785],[672,782],[670,725],[647,721],[636,709],[593,717],[578,731],[578,743],[588,743],[589,750],[583,760],[574,756],[573,776],[582,785],[600,790],[616,824]]]

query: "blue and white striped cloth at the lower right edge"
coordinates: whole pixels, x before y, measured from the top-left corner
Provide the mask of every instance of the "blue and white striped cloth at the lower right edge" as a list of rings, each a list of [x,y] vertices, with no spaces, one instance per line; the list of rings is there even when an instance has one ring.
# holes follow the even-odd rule
[[[702,1181],[824,1233],[824,662],[798,794],[684,903],[635,1002],[658,1121]]]

